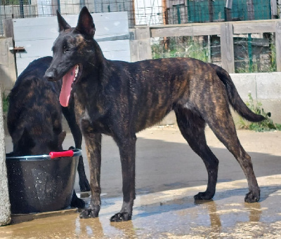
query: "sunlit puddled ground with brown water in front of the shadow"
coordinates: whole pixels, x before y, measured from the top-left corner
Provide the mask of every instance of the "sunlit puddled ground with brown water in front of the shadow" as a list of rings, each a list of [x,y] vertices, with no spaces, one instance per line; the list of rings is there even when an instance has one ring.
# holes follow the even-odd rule
[[[100,217],[77,212],[0,228],[0,238],[281,238],[281,175],[259,177],[261,201],[244,203],[247,182],[217,186],[214,200],[195,203],[205,186],[138,196],[133,220],[110,223],[121,198],[103,198]],[[86,198],[89,202],[89,198]]]

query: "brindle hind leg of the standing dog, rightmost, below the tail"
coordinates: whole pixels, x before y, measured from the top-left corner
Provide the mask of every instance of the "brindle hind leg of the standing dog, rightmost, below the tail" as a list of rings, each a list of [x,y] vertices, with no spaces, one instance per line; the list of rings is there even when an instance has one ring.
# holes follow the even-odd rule
[[[226,146],[230,153],[233,153],[233,156],[240,163],[244,175],[246,175],[249,193],[244,198],[245,202],[257,202],[260,198],[260,189],[254,175],[251,157],[240,144],[230,110],[226,106],[223,107],[223,105],[213,104],[213,106],[214,109],[209,109],[209,114],[204,118],[216,137]]]

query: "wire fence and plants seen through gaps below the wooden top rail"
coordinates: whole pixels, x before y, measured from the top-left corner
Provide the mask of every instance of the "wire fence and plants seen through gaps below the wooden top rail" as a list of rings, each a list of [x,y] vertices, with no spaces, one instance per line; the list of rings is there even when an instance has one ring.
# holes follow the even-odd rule
[[[275,34],[233,36],[235,73],[276,71]],[[220,36],[179,36],[151,39],[152,57],[192,57],[221,66]]]

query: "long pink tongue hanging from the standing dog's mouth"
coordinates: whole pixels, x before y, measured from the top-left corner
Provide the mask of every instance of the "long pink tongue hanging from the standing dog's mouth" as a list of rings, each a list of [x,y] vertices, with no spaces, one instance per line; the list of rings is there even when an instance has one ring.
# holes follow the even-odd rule
[[[63,107],[67,107],[70,101],[71,86],[75,77],[75,67],[76,66],[72,67],[72,69],[63,76],[63,86],[60,90],[60,104]]]

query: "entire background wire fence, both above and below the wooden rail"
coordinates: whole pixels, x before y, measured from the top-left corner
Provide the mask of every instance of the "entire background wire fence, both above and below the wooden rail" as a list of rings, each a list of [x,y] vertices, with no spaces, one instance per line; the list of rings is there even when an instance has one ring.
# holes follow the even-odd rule
[[[0,36],[3,20],[78,14],[83,6],[91,13],[127,11],[129,27],[193,22],[226,22],[279,18],[277,0],[0,0]],[[235,71],[275,71],[275,35],[234,36]],[[220,36],[181,36],[152,39],[152,56],[195,57],[221,64]]]

